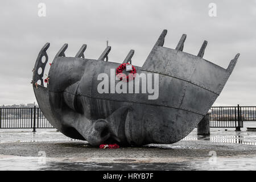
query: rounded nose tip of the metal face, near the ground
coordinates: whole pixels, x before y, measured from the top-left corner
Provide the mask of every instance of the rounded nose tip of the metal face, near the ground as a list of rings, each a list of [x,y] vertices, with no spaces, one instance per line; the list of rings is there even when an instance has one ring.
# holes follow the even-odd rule
[[[108,140],[110,137],[109,125],[105,119],[98,119],[90,130],[88,142],[98,146]]]

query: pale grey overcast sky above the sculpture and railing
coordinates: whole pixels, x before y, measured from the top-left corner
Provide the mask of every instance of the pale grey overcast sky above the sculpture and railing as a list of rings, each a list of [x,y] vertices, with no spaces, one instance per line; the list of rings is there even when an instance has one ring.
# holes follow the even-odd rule
[[[46,16],[38,16],[45,3]],[[209,3],[217,16],[210,17]],[[240,52],[238,63],[214,105],[256,105],[256,1],[1,1],[0,105],[35,100],[30,81],[36,57],[46,42],[51,62],[68,43],[66,56],[87,44],[85,57],[97,59],[106,47],[109,60],[122,63],[130,49],[133,64],[142,66],[163,29],[164,47],[175,48],[187,34],[184,52],[197,55],[208,40],[204,59],[227,68]],[[46,71],[48,72],[47,64]],[[45,72],[46,73],[46,72]]]

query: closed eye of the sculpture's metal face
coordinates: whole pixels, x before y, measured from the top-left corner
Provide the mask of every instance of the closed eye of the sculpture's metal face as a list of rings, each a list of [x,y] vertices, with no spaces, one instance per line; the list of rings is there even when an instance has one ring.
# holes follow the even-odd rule
[[[80,82],[68,86],[63,93],[65,104],[77,113],[83,113],[82,104],[79,99]]]

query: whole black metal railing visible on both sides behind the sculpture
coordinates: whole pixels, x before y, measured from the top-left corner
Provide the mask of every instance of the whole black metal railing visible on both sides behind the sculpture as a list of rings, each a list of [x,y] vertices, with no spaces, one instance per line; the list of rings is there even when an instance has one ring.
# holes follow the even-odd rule
[[[243,121],[256,121],[256,106],[211,107],[210,127],[235,127]],[[39,107],[0,107],[0,129],[49,129],[51,123]]]

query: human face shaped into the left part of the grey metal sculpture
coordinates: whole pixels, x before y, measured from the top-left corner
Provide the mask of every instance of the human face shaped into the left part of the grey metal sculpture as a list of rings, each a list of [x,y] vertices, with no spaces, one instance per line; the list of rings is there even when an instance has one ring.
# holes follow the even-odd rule
[[[98,97],[96,79],[100,69],[95,69],[95,61],[70,59],[55,59],[49,72],[49,103],[57,121],[55,127],[95,146],[109,142],[127,144],[125,121],[131,105],[115,103],[104,94]],[[103,68],[105,62],[101,63]]]

